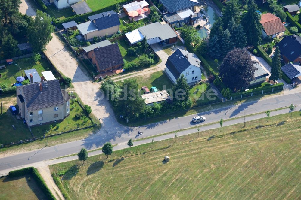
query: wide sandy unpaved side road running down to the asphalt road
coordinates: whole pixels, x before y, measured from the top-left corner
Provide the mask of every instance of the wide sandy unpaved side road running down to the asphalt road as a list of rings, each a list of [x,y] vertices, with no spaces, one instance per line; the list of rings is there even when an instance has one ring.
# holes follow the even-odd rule
[[[45,55],[62,74],[72,79],[75,92],[82,102],[91,106],[92,113],[100,119],[101,130],[105,129],[106,133],[113,130],[114,132],[123,131],[125,128],[116,121],[109,102],[99,91],[99,84],[92,82],[90,75],[82,69],[77,59],[64,47],[57,35],[53,33],[52,36],[52,40],[46,46]]]

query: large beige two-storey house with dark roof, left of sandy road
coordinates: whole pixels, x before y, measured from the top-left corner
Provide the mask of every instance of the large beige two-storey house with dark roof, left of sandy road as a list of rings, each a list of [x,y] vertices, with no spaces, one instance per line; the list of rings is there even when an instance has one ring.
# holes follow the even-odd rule
[[[63,121],[70,114],[70,96],[58,79],[17,87],[17,104],[29,127]]]

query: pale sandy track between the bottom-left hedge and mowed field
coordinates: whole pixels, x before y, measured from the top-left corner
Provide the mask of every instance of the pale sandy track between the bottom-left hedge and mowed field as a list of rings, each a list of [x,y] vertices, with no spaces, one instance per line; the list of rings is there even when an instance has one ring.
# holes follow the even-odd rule
[[[58,189],[57,185],[54,183],[54,180],[50,174],[48,166],[41,166],[37,168],[43,179],[45,180],[46,185],[51,190],[51,193],[56,199],[65,199],[61,193],[61,190]]]

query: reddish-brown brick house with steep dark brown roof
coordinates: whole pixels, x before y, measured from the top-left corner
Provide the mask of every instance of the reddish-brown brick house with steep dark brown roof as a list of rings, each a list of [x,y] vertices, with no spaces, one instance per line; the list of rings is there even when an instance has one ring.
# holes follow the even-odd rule
[[[110,71],[124,64],[118,43],[96,47],[88,52],[88,58],[99,72]]]

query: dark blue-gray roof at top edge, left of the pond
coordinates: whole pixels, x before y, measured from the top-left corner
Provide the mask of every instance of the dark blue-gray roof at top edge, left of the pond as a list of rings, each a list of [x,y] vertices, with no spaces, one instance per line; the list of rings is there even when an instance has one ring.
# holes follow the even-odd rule
[[[163,9],[166,12],[174,13],[176,11],[181,11],[186,8],[191,10],[196,10],[196,6],[200,5],[197,0],[160,0],[163,4]]]

